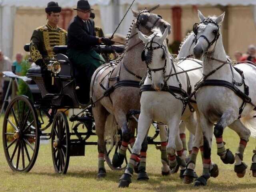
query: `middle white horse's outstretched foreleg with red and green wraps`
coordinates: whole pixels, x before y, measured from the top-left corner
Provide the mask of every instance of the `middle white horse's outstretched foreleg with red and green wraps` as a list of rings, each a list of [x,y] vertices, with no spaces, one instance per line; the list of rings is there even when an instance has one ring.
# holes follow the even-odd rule
[[[129,162],[126,166],[124,174],[119,179],[118,187],[124,188],[128,187],[129,184],[132,182],[132,174],[134,171],[134,166],[139,158],[139,153],[142,149],[142,142],[145,140],[146,135],[148,133],[148,128],[152,123],[152,119],[148,116],[148,114],[140,113],[140,117],[138,119],[138,134],[132,148],[132,154],[129,159]],[[142,153],[142,156],[145,155]]]

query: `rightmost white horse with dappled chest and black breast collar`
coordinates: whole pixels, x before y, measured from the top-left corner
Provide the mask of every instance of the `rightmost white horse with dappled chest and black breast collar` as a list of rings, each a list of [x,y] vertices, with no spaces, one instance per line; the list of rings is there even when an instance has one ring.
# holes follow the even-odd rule
[[[206,185],[210,178],[213,133],[218,147],[217,154],[225,164],[233,164],[235,161],[234,171],[238,177],[243,177],[246,172],[247,166],[242,160],[249,136],[250,134],[254,137],[256,135],[256,119],[254,118],[256,114],[256,66],[252,64],[232,66],[227,59],[220,33],[220,22],[223,21],[224,14],[206,18],[198,10],[200,24],[194,26],[196,32],[194,55],[196,58],[203,57],[204,74],[202,82],[195,88],[199,110],[196,137],[203,135],[204,169],[202,175],[196,179],[194,186]],[[240,137],[235,156],[224,147],[222,133],[227,126],[236,131]],[[253,162],[254,166],[251,169],[255,171],[255,154]],[[187,166],[190,167],[190,165]]]

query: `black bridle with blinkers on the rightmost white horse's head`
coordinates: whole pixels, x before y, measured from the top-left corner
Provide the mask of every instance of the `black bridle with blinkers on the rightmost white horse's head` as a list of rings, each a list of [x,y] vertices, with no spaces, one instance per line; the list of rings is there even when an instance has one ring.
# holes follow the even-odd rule
[[[219,38],[219,36],[220,36],[220,26],[216,23],[216,22],[214,22],[213,20],[211,20],[209,17],[208,18],[206,18],[206,19],[204,19],[202,22],[200,22],[200,24],[204,24],[204,25],[208,25],[209,23],[213,23],[213,24],[215,24],[217,27],[218,27],[218,30],[217,30],[217,33],[215,34],[215,37],[214,37],[214,39],[212,40],[212,42],[210,42],[209,40],[208,40],[208,38],[206,37],[206,36],[204,36],[204,35],[200,35],[199,36],[199,38],[200,37],[202,37],[202,38],[204,38],[207,42],[208,42],[208,48],[207,48],[207,50],[214,44],[214,42],[216,42],[217,40],[218,40],[218,38]],[[196,38],[197,37],[197,34],[198,34],[198,23],[195,23],[194,25],[193,25],[193,32],[194,32],[194,34],[195,34],[195,39],[194,39],[194,42],[195,42],[195,44],[197,43],[197,41],[198,41],[198,39]],[[203,29],[204,30],[204,29]],[[202,31],[203,31],[202,30]]]

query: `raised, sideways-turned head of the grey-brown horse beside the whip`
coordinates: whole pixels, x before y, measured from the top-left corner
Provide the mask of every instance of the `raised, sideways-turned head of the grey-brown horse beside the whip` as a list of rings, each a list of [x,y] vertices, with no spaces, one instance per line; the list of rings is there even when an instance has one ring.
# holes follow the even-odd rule
[[[135,25],[138,31],[141,31],[143,34],[150,35],[151,30],[155,27],[158,27],[162,33],[164,33],[166,28],[168,29],[168,34],[171,33],[171,25],[163,20],[162,16],[151,13],[152,10],[158,7],[159,5],[149,10],[145,8],[145,10],[140,12],[132,10],[134,17],[136,17]]]

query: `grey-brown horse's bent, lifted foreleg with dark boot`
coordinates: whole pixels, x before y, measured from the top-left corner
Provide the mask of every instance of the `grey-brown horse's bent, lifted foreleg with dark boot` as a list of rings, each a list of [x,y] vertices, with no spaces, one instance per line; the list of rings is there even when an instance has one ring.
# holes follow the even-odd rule
[[[118,114],[115,116],[116,121],[119,125],[121,125],[122,130],[122,144],[118,151],[118,153],[115,153],[112,158],[112,164],[114,167],[119,167],[123,164],[124,158],[126,157],[126,150],[128,149],[128,144],[130,142],[130,139],[132,138],[132,132],[128,128],[128,124],[126,122],[126,115],[125,114]],[[133,120],[131,120],[132,122]]]

